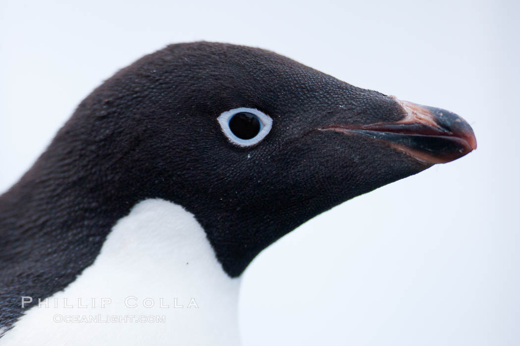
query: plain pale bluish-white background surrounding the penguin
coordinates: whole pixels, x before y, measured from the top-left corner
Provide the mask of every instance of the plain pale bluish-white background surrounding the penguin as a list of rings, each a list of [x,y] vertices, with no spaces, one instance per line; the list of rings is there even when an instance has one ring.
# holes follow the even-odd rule
[[[74,107],[180,41],[274,50],[452,110],[478,149],[325,213],[244,275],[244,345],[518,345],[518,1],[0,3],[0,190]]]

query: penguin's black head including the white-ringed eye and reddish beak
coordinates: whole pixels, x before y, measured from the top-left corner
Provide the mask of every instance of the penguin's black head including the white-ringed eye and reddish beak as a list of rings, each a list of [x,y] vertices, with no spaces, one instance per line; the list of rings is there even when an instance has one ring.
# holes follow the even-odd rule
[[[306,220],[475,147],[469,125],[446,110],[270,51],[190,43],[107,80],[48,153],[67,157],[75,184],[104,199],[183,205],[238,276]]]

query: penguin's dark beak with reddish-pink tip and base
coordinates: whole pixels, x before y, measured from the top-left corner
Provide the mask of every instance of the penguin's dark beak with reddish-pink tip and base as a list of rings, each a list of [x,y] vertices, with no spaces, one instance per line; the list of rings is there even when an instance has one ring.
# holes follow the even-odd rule
[[[321,130],[369,136],[427,164],[450,162],[477,148],[471,126],[457,114],[441,108],[395,100],[407,114],[397,122],[333,125]]]

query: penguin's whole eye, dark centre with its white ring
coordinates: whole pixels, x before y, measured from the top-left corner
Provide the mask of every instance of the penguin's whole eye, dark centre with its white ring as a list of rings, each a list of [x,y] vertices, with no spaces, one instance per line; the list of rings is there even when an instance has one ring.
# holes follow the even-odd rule
[[[254,108],[235,108],[220,114],[218,123],[228,139],[239,146],[254,145],[271,131],[272,119]]]

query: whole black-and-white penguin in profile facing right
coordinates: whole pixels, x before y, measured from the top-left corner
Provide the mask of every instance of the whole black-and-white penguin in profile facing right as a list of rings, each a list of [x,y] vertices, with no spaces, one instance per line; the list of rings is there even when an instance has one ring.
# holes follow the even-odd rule
[[[88,95],[0,196],[0,344],[239,344],[264,248],[475,148],[448,110],[271,51],[167,46]]]

